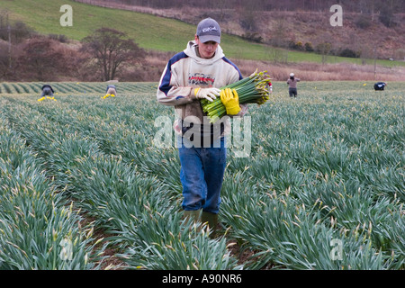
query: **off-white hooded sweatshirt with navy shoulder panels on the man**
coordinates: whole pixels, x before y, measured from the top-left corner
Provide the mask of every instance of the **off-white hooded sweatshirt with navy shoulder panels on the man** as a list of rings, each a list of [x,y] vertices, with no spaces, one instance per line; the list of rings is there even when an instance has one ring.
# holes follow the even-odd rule
[[[171,58],[163,71],[157,89],[157,101],[175,106],[180,120],[193,123],[204,123],[204,112],[200,100],[195,98],[193,89],[196,87],[220,88],[242,79],[238,67],[229,61],[218,46],[212,58],[200,58],[197,45],[189,41],[184,51]],[[247,105],[240,105],[242,110],[237,116],[243,116]],[[206,117],[205,117],[206,118]],[[177,127],[176,127],[177,125]],[[183,123],[183,127],[184,127]],[[226,125],[229,128],[229,123]],[[228,126],[228,127],[227,127]],[[204,129],[205,128],[205,129]],[[211,133],[210,127],[202,128],[202,136]],[[181,127],[175,122],[175,131],[180,133]],[[222,135],[223,136],[223,135]]]

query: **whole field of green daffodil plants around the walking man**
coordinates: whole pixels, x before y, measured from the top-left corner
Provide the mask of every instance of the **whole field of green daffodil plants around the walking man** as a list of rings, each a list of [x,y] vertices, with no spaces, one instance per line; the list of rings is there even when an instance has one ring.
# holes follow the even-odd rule
[[[273,83],[218,238],[182,219],[156,83],[41,85],[0,84],[0,269],[404,269],[405,83]]]

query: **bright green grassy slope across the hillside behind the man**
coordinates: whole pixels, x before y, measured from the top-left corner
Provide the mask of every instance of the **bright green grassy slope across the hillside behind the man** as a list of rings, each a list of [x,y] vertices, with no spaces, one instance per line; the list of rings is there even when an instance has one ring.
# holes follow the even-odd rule
[[[70,4],[73,8],[73,26],[62,27],[59,12],[62,4]],[[124,10],[103,8],[88,4],[80,4],[70,0],[8,0],[2,1],[2,8],[11,12],[12,20],[27,23],[35,31],[48,34],[65,34],[68,38],[81,40],[100,27],[111,27],[128,33],[141,48],[160,51],[180,51],[185,48],[188,40],[193,40],[195,26],[180,21],[140,14]],[[224,34],[222,48],[229,58],[245,58],[254,60],[271,60],[274,58],[273,48],[242,40],[236,36]],[[321,56],[314,53],[288,52],[289,62],[321,62]],[[329,62],[355,62],[360,59],[329,57]],[[391,61],[379,60],[384,66],[392,66]],[[395,62],[397,65],[398,63]],[[405,65],[405,64],[404,64]]]

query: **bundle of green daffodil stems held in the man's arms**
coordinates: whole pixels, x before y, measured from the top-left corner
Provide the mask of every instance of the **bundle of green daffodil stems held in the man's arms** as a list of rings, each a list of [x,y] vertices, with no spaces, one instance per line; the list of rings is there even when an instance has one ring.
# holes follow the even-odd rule
[[[266,74],[266,71],[255,71],[251,76],[230,85],[223,86],[220,90],[226,88],[235,89],[238,93],[239,103],[257,103],[261,105],[266,103],[270,98],[272,89],[270,80],[270,76]],[[211,122],[217,121],[227,113],[224,104],[220,101],[220,97],[217,97],[213,102],[202,99],[201,104],[202,111],[207,113]]]

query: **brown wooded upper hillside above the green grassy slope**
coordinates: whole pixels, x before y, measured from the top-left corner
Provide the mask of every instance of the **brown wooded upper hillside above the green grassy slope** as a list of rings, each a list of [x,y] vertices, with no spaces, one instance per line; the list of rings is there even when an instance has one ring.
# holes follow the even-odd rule
[[[405,60],[405,2],[402,0],[75,1],[157,14],[193,24],[211,16],[229,34],[285,49]],[[329,24],[333,14],[329,9],[333,4],[343,7],[342,27]]]

